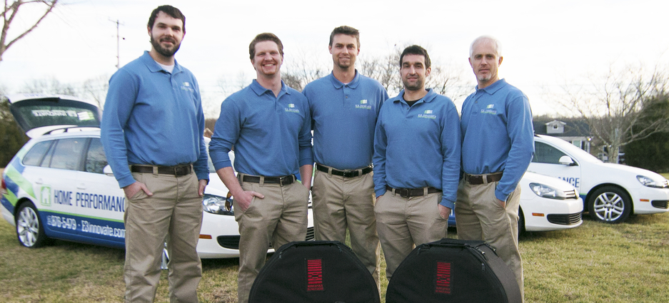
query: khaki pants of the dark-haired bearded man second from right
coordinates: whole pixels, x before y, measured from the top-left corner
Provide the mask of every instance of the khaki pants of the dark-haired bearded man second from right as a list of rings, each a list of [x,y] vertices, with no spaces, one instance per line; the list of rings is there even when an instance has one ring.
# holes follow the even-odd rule
[[[386,257],[388,281],[416,245],[446,237],[448,220],[439,215],[441,192],[401,197],[387,191],[376,200],[376,230]]]

